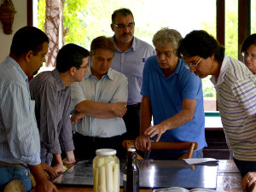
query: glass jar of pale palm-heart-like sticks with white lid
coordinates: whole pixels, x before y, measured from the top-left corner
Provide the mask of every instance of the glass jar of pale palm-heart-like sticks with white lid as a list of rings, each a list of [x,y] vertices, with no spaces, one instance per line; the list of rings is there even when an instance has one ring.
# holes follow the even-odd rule
[[[119,159],[115,154],[111,148],[96,150],[92,162],[94,192],[119,192]]]

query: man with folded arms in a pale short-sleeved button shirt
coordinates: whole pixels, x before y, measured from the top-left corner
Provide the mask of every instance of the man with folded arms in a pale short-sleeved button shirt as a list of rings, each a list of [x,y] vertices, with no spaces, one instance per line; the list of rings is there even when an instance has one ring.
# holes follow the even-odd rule
[[[75,156],[93,158],[98,148],[114,148],[124,158],[122,119],[128,96],[125,75],[113,70],[116,50],[112,38],[98,37],[90,45],[90,71],[82,82],[71,85]]]

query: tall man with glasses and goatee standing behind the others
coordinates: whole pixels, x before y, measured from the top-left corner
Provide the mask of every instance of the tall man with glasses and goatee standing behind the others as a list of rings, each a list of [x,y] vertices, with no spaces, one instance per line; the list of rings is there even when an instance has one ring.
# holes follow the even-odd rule
[[[111,29],[117,47],[112,68],[125,74],[128,79],[127,112],[123,119],[127,133],[125,139],[135,139],[140,133],[140,111],[143,82],[143,67],[149,56],[155,55],[154,48],[134,37],[135,22],[130,9],[113,11]]]

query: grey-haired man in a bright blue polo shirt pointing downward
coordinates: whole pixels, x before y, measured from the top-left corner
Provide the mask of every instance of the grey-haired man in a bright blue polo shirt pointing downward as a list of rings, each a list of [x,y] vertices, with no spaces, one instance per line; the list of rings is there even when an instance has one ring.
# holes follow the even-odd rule
[[[150,141],[196,142],[192,158],[202,158],[207,147],[201,79],[190,73],[183,60],[177,57],[182,36],[164,28],[154,34],[156,55],[151,56],[143,69],[141,134],[136,147],[148,150]],[[154,126],[150,126],[153,115]],[[152,150],[152,159],[176,160],[183,151]]]

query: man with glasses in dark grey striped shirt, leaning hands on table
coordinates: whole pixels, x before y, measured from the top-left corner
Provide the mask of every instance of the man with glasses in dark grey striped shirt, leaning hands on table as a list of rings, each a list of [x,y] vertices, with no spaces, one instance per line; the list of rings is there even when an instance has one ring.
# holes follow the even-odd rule
[[[66,164],[75,162],[73,134],[70,120],[70,84],[79,82],[89,71],[89,51],[76,44],[64,45],[56,58],[53,71],[39,73],[29,82],[41,142],[41,160],[54,172],[62,172],[61,148]]]

